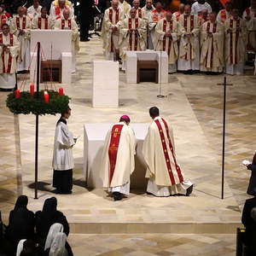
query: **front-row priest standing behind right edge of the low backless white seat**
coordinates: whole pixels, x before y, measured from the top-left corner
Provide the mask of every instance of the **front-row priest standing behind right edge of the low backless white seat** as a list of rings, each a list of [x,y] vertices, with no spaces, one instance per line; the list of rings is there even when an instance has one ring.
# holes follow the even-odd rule
[[[166,18],[158,21],[155,27],[156,50],[166,51],[169,56],[169,73],[177,72],[177,57],[178,57],[178,35],[177,22],[172,19],[172,13],[167,12]]]

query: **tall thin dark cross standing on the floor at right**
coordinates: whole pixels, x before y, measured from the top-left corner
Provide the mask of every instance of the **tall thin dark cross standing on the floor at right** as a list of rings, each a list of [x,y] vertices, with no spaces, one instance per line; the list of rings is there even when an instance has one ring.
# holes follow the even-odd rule
[[[225,170],[225,131],[226,131],[226,95],[227,86],[232,86],[233,84],[227,84],[227,78],[224,77],[224,83],[218,84],[224,86],[224,99],[223,99],[223,140],[222,140],[222,180],[221,180],[221,199],[224,199],[224,170]]]

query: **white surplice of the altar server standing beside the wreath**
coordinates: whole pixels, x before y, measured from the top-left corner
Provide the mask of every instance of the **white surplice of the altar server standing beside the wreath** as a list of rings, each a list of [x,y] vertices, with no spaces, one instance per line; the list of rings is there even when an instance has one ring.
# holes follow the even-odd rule
[[[68,131],[67,124],[59,122],[55,129],[55,145],[52,161],[52,167],[55,171],[73,169],[72,148],[74,144],[73,133]]]

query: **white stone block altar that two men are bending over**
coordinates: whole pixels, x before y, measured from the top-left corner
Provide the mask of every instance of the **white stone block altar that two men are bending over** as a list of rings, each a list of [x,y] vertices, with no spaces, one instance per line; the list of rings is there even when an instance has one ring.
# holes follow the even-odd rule
[[[84,176],[89,188],[102,188],[100,168],[102,149],[108,130],[113,124],[84,125]],[[131,175],[131,188],[146,188],[146,164],[143,159],[143,141],[148,132],[148,124],[131,124],[137,137],[135,171]]]

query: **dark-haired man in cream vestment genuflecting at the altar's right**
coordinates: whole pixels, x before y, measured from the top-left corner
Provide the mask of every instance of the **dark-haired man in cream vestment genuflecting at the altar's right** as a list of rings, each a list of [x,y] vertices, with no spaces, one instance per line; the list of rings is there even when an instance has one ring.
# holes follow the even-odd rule
[[[158,108],[150,108],[149,114],[153,122],[143,143],[147,192],[155,196],[190,195],[193,184],[185,180],[177,163],[171,125],[160,117]]]

